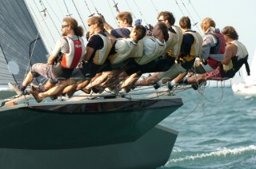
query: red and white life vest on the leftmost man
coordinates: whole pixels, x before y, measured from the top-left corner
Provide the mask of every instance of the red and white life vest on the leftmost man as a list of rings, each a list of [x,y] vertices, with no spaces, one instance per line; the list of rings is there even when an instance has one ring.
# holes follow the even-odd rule
[[[74,69],[85,54],[85,45],[81,37],[72,40],[70,37],[63,37],[69,44],[69,52],[62,53],[61,65],[64,69]]]

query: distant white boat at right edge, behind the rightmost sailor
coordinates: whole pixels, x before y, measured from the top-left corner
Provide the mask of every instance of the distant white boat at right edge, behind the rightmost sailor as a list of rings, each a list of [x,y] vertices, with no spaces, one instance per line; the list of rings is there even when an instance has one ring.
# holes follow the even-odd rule
[[[237,96],[256,96],[256,51],[250,65],[250,76],[247,76],[245,66],[242,67],[243,82],[232,85],[234,95]]]

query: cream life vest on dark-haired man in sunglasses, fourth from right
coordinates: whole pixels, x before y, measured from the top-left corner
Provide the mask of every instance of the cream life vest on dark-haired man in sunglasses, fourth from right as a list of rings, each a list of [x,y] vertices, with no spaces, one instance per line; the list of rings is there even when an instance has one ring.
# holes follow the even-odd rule
[[[174,33],[170,30],[169,33],[169,39],[166,41],[166,50],[164,53],[167,53],[169,57],[178,57],[182,45],[182,29],[180,29],[178,26],[172,26],[172,29],[174,29]]]

